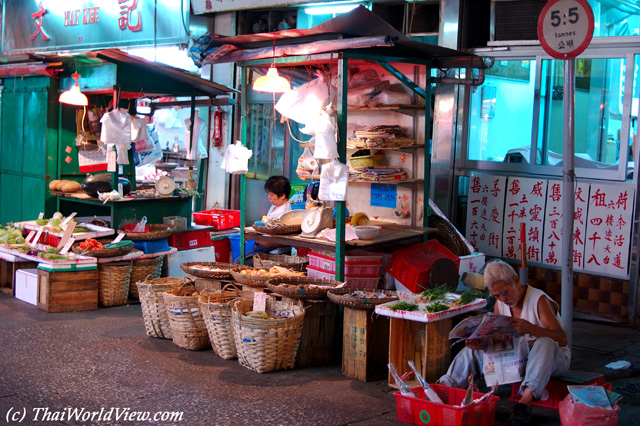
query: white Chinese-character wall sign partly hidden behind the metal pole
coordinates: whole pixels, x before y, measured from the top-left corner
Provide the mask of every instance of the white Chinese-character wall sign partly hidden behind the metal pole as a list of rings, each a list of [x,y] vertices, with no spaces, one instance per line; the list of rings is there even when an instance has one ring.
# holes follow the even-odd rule
[[[584,235],[586,233],[589,184],[576,183],[573,213],[573,268],[584,268]],[[562,266],[562,182],[550,180],[545,210],[542,263]]]

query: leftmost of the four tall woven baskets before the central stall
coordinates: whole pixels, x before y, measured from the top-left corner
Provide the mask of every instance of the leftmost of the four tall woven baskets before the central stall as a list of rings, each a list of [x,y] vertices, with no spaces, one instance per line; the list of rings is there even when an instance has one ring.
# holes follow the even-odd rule
[[[147,336],[159,339],[172,338],[167,307],[164,304],[164,292],[179,286],[182,282],[181,278],[152,279],[152,276],[149,275],[144,281],[137,283],[138,298]]]

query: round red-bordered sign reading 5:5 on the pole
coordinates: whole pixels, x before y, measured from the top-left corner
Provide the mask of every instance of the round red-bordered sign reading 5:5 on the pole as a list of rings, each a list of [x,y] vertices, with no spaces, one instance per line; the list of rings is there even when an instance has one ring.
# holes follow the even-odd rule
[[[538,18],[538,39],[556,59],[575,58],[593,38],[593,11],[587,0],[550,0]]]

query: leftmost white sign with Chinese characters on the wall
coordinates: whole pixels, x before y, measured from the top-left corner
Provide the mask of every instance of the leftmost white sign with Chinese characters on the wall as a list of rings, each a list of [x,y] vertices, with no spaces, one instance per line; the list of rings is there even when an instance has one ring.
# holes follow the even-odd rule
[[[469,179],[467,232],[469,242],[488,256],[500,256],[506,177],[474,174]]]

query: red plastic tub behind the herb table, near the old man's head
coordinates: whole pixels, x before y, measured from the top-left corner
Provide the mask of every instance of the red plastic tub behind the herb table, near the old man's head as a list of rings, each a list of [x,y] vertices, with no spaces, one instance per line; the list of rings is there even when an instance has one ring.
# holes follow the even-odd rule
[[[433,263],[446,257],[460,267],[460,258],[440,244],[429,240],[421,244],[396,250],[391,254],[387,272],[413,293],[429,288],[429,273]]]

